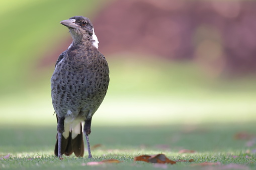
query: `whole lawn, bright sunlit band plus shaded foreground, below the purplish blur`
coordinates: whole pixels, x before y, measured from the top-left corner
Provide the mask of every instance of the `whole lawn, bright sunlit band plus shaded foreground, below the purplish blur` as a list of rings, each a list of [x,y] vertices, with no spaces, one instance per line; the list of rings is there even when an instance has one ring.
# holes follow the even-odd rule
[[[59,161],[53,156],[56,118],[49,74],[47,81],[0,98],[0,154],[11,154],[0,160],[0,168],[155,169],[133,158],[157,153],[195,160],[167,165],[173,169],[199,169],[190,164],[204,161],[228,165],[216,169],[256,167],[255,139],[234,139],[241,131],[256,135],[254,79],[208,79],[186,63],[113,59],[109,64],[109,91],[92,123],[91,145],[102,145],[92,150],[94,159],[70,156]],[[196,152],[179,153],[181,149]],[[110,158],[123,162],[84,166]]]

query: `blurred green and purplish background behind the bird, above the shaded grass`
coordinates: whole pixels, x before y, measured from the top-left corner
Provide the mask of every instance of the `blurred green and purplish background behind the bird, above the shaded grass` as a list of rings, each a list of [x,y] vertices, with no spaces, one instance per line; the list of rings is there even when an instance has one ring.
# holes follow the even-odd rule
[[[93,22],[110,67],[92,126],[253,123],[255,9],[255,1],[1,1],[0,124],[56,125],[50,78],[72,42],[59,22],[76,15]]]

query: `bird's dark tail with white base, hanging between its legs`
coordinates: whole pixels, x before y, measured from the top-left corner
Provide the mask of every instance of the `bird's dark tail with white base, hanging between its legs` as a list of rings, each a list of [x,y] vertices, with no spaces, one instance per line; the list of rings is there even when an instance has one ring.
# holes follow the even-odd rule
[[[67,127],[69,126],[69,127]],[[69,129],[69,130],[68,130]],[[83,130],[82,122],[77,124],[74,128],[71,124],[64,124],[64,132],[62,133],[61,139],[61,155],[65,154],[69,156],[74,152],[75,156],[83,156],[84,153],[84,142],[83,142]],[[57,141],[55,144],[54,154],[58,156],[58,134]]]

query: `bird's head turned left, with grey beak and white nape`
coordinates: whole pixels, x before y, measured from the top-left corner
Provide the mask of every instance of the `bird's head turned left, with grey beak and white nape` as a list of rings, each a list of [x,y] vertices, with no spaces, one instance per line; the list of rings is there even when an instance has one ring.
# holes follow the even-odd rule
[[[66,26],[71,34],[73,42],[80,43],[82,41],[91,41],[98,48],[98,38],[94,33],[92,22],[82,16],[71,17],[69,20],[63,20],[60,24]]]

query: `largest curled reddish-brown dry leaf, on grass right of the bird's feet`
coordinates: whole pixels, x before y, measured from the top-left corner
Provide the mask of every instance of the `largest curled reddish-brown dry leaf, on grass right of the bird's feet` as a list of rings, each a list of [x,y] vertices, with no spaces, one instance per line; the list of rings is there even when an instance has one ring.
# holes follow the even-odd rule
[[[140,155],[134,157],[134,161],[145,161],[150,163],[170,163],[175,164],[176,161],[168,159],[164,154]]]

